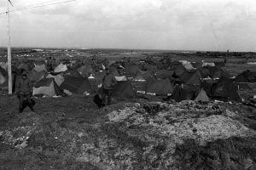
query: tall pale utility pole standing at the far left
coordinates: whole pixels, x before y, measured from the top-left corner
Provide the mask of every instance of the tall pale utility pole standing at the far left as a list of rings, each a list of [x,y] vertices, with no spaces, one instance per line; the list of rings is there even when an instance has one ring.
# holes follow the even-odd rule
[[[10,48],[10,23],[9,23],[9,0],[6,0],[6,8],[7,8],[7,34],[8,34],[8,47],[7,47],[7,56],[8,56],[8,89],[9,89],[9,94],[12,94],[12,57],[11,57],[11,48]]]

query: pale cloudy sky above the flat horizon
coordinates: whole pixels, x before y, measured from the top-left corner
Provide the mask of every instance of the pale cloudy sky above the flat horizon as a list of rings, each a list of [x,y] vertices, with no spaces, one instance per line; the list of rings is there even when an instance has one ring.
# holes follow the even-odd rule
[[[256,51],[255,0],[65,1],[11,0],[12,47]],[[37,3],[59,4],[17,10]],[[0,14],[2,47],[6,23]]]

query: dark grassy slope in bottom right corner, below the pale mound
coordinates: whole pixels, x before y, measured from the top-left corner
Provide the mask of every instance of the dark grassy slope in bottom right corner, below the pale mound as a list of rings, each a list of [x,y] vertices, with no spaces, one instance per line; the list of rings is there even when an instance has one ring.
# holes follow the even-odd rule
[[[187,140],[175,152],[180,169],[256,169],[256,138],[217,139],[206,146]]]

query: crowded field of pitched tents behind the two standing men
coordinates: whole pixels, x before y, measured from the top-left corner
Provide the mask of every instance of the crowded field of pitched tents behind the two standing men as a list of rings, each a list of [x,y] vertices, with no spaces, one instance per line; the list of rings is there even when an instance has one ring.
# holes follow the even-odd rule
[[[125,68],[119,65],[119,62],[110,63],[108,68],[118,80],[113,90],[115,96],[134,97],[136,92],[141,92],[169,95],[169,99],[177,101],[209,98],[239,101],[240,87],[249,89],[247,82],[256,82],[255,72],[243,71],[237,77],[231,77],[222,63],[174,61],[169,63],[167,69],[155,69],[155,65],[149,65],[150,69],[146,71],[142,70],[140,63],[131,62],[125,65]],[[6,66],[2,65],[0,88],[7,88]],[[19,70],[26,70],[34,82],[33,94],[55,96],[63,94],[63,91],[84,94],[91,92],[101,82],[104,67],[101,63],[94,68],[89,64],[83,65],[82,62],[74,61],[73,65],[57,65],[55,71],[49,74],[44,64],[27,61],[15,65],[13,82],[18,81]],[[91,74],[96,77],[94,83],[88,79]]]

